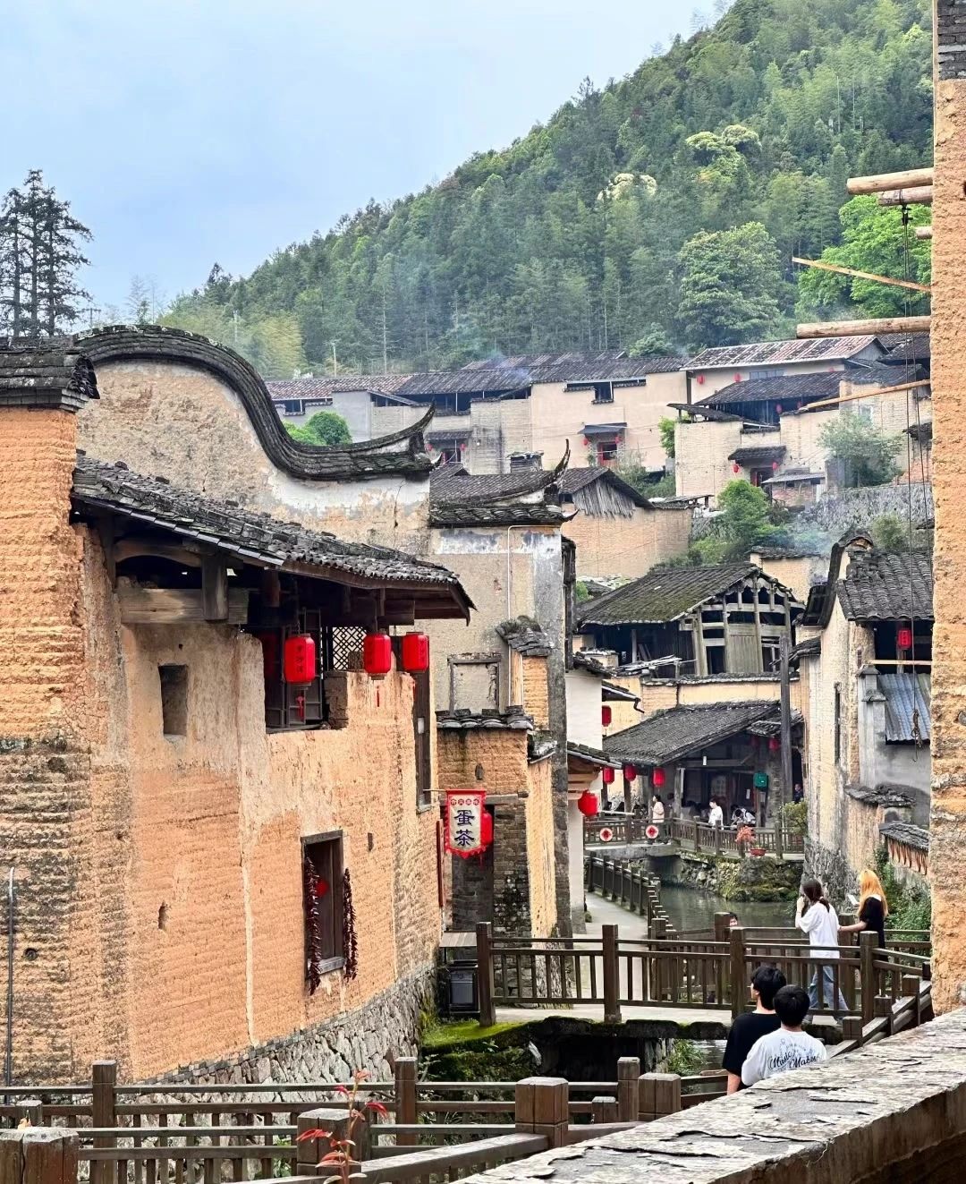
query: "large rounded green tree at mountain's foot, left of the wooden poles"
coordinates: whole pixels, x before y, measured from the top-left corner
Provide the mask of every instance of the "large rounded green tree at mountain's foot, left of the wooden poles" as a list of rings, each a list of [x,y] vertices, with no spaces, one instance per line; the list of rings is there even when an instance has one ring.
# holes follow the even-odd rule
[[[777,332],[781,268],[761,223],[688,239],[680,256],[678,316],[689,343],[729,346]]]

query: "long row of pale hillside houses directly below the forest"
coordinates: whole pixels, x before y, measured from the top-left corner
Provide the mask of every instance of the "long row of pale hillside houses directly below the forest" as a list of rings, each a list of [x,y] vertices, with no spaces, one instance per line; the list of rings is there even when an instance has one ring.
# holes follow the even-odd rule
[[[413,423],[433,404],[430,444],[475,475],[509,472],[514,457],[543,457],[552,465],[569,442],[593,464],[630,453],[659,476],[665,456],[658,424],[669,404],[685,400],[680,358],[629,358],[616,349],[501,358],[426,374],[360,375],[356,390],[349,392],[350,385],[349,378],[334,385],[297,379],[272,388],[279,414],[294,423],[302,422],[300,406],[303,416],[318,407],[315,392],[334,400],[331,410],[339,410],[341,392],[343,400],[362,405],[353,422],[368,416],[373,436]]]

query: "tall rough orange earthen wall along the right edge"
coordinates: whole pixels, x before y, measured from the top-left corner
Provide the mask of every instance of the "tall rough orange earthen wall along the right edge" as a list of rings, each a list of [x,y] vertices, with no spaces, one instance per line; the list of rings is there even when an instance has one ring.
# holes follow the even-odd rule
[[[962,4],[934,5],[939,45],[933,182],[933,998],[966,1002],[966,38]]]

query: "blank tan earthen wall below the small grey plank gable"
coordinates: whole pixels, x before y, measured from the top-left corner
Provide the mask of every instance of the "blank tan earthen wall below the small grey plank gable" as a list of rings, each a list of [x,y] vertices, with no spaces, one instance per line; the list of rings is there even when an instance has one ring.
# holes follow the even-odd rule
[[[689,507],[674,510],[635,509],[632,517],[597,517],[577,514],[562,527],[577,543],[577,572],[587,575],[625,575],[637,579],[655,564],[688,549],[691,535]]]

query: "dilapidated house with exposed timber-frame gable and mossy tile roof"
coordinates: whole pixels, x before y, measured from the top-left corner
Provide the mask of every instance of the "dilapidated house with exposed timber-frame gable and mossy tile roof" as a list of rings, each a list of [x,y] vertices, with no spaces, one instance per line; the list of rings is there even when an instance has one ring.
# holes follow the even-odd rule
[[[758,675],[772,670],[800,605],[752,564],[655,568],[578,609],[578,632],[650,674]]]

